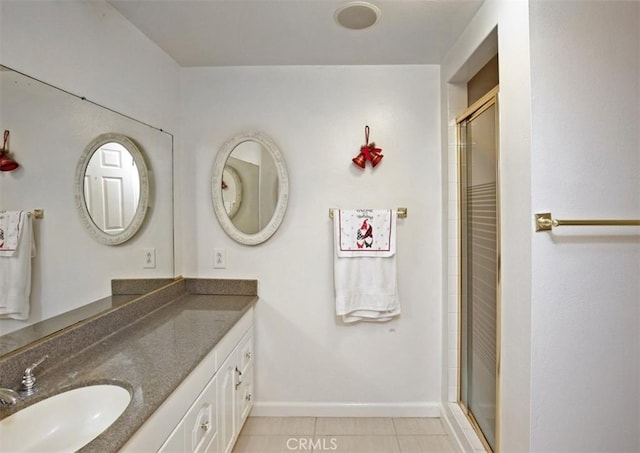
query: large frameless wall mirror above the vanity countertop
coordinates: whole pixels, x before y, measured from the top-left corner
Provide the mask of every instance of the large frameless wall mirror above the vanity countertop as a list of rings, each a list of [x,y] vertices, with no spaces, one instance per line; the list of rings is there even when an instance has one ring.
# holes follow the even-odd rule
[[[0,356],[128,299],[112,296],[112,280],[173,279],[170,133],[2,66],[0,129],[10,130],[9,150],[20,162],[0,174],[0,210],[44,211],[33,220],[30,316],[0,319]],[[91,198],[97,187],[85,180],[94,166],[114,185]],[[117,166],[120,175],[110,179]],[[114,182],[125,173],[126,189]],[[127,194],[117,202],[126,197],[127,206],[97,206],[121,189]],[[153,266],[145,261],[150,249]]]

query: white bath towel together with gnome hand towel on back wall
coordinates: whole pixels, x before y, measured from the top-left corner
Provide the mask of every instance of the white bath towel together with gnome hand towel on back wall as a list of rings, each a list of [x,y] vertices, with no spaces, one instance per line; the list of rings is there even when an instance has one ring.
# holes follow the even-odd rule
[[[378,213],[385,213],[382,217],[388,215],[389,222],[375,221]],[[389,321],[400,314],[395,256],[396,218],[395,210],[334,211],[336,315],[341,316],[344,322]],[[361,242],[370,238],[367,233],[370,226],[374,236],[371,247],[364,242],[362,247],[356,245],[355,250],[345,250],[352,248],[349,246],[352,240]],[[381,236],[376,236],[378,227],[384,233]],[[354,228],[357,230],[353,231]],[[345,236],[351,239],[345,242]],[[367,249],[371,251],[364,251]]]

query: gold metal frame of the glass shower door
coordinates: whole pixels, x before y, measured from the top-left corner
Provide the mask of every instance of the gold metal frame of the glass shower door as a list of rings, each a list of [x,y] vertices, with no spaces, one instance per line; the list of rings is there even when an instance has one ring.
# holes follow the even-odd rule
[[[500,451],[500,325],[501,325],[501,274],[500,274],[500,115],[498,105],[499,86],[491,89],[472,105],[470,105],[461,115],[456,118],[456,139],[458,148],[458,405],[462,409],[474,431],[482,441],[485,449],[489,452]],[[463,122],[470,122],[484,113],[491,107],[495,107],[495,144],[496,144],[496,382],[495,382],[495,448],[492,448],[487,441],[480,425],[476,421],[473,413],[462,401],[462,297],[463,297],[463,201],[466,193],[463,190],[463,182],[466,180],[466,137],[463,136]]]

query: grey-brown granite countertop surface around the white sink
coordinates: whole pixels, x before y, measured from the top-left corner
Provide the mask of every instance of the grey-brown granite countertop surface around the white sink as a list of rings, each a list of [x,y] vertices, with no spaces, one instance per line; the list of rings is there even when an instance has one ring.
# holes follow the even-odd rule
[[[81,450],[117,452],[257,299],[256,295],[180,294],[62,363],[43,364],[37,373],[37,393],[0,412],[0,418],[75,387],[118,384],[129,390],[131,403]]]

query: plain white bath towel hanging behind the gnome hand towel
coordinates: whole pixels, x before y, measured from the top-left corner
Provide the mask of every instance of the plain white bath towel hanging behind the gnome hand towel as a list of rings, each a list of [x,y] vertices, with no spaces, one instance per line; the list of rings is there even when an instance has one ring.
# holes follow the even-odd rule
[[[360,210],[361,211],[361,210]],[[340,215],[342,214],[342,215]],[[371,256],[366,253],[339,256],[341,217],[357,215],[349,211],[334,212],[334,285],[336,315],[344,322],[389,321],[400,314],[400,300],[396,278],[395,253]],[[395,236],[397,213],[390,211],[391,233]],[[395,237],[393,252],[395,252]],[[343,247],[344,248],[344,247]],[[364,247],[363,247],[364,248]]]

